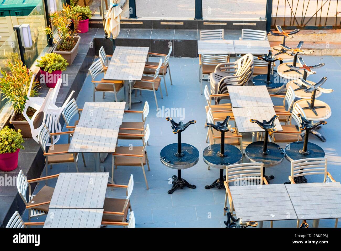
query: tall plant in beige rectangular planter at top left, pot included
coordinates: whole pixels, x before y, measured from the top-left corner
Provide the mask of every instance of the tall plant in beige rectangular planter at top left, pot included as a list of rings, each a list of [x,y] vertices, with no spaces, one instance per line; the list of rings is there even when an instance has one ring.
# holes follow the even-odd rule
[[[80,37],[77,36],[78,24],[80,20],[79,13],[73,12],[70,5],[63,5],[63,10],[50,14],[51,24],[56,27],[57,41],[53,36],[53,30],[50,26],[45,28],[46,34],[55,40],[57,45],[53,52],[61,55],[71,65],[78,53]],[[74,29],[70,29],[70,25],[74,24]]]

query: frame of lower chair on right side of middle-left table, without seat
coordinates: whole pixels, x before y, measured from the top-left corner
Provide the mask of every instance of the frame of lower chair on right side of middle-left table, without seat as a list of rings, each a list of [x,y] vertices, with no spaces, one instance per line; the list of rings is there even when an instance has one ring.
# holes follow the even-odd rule
[[[146,177],[146,172],[145,172],[145,168],[144,168],[144,164],[143,164],[143,156],[144,154],[146,155],[146,164],[148,166],[148,171],[150,171],[150,167],[149,167],[149,161],[148,161],[148,156],[147,156],[147,151],[146,151],[146,146],[147,146],[147,142],[150,136],[150,129],[149,129],[149,125],[146,125],[146,129],[144,131],[144,135],[143,135],[143,148],[141,151],[141,154],[120,154],[120,153],[113,153],[113,157],[112,157],[112,175],[111,175],[111,183],[114,184],[114,167],[115,169],[117,169],[117,165],[115,164],[115,156],[126,156],[126,157],[133,157],[133,158],[139,158],[140,162],[141,162],[141,167],[142,167],[142,171],[143,171],[143,176],[145,178],[145,182],[146,182],[146,187],[147,189],[149,189],[148,186],[148,181],[147,181],[147,177]]]

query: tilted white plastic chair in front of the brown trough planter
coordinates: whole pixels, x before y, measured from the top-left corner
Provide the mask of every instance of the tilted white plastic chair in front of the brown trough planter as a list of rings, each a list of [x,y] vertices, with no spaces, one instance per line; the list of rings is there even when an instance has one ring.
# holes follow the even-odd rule
[[[38,135],[39,135],[40,130],[45,125],[44,121],[46,120],[47,110],[51,102],[52,93],[53,93],[53,89],[50,88],[41,106],[37,105],[36,103],[34,103],[33,101],[29,99],[27,99],[25,103],[23,116],[25,117],[28,124],[30,125],[32,138],[36,142],[38,142]],[[26,113],[29,107],[32,107],[36,110],[32,118],[29,118],[29,116]]]

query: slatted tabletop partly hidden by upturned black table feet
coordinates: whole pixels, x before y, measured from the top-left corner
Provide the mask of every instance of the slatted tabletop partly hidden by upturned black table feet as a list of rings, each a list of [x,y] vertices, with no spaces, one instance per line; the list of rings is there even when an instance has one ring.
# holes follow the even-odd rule
[[[235,123],[239,133],[264,131],[256,123],[251,123],[251,119],[258,121],[269,121],[273,115],[276,115],[272,106],[268,107],[232,107],[232,112],[235,118]],[[279,131],[283,131],[283,128],[278,120],[275,120],[275,127]]]

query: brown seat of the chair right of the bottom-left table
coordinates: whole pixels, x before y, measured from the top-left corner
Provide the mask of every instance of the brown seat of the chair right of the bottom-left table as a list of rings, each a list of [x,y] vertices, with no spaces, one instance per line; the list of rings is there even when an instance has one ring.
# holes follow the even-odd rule
[[[105,198],[104,199],[104,211],[108,212],[123,212],[124,204],[126,199],[116,199],[116,198]],[[128,210],[130,207],[130,201],[128,200],[128,205],[124,210],[124,215],[106,215],[103,214],[102,221],[111,222],[125,222],[127,220]]]

